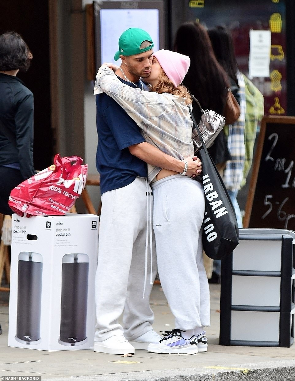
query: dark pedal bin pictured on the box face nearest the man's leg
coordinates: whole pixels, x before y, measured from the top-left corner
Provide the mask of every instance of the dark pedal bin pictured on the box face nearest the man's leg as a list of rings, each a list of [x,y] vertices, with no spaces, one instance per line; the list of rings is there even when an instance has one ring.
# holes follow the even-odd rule
[[[88,273],[87,254],[63,256],[59,344],[77,346],[87,342]]]

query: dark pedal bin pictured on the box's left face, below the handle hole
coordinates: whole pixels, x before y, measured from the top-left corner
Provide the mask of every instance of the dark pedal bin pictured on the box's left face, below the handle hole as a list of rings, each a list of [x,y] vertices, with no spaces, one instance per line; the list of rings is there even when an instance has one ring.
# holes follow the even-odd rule
[[[42,255],[22,251],[18,256],[18,306],[15,339],[38,344],[40,338]]]

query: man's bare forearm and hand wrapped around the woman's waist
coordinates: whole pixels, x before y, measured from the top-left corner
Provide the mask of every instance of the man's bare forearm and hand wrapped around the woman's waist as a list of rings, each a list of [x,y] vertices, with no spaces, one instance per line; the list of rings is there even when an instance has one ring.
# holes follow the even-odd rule
[[[134,144],[128,148],[132,155],[151,165],[179,173],[182,173],[184,170],[184,162],[182,160],[178,160],[175,157],[165,154],[148,142]],[[187,159],[186,161],[188,162],[188,170],[186,171],[187,176],[201,173],[202,166],[199,158],[197,158],[196,161],[193,159]]]

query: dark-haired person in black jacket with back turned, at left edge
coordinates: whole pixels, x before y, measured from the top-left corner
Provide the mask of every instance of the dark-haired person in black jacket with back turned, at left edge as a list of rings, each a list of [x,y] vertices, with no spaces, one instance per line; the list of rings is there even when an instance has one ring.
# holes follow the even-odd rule
[[[16,78],[33,58],[29,47],[15,32],[0,35],[0,213],[12,215],[11,190],[31,177],[33,164],[34,98]]]

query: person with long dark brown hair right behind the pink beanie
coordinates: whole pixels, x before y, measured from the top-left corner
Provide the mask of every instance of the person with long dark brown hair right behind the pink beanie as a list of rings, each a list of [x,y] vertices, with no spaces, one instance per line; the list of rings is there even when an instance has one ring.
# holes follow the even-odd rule
[[[174,50],[191,59],[191,66],[183,84],[200,102],[202,108],[223,115],[229,81],[226,72],[217,62],[207,30],[199,22],[181,24],[175,35]],[[193,104],[194,106],[194,104]],[[201,117],[199,107],[192,108],[197,122]],[[226,136],[221,131],[208,149],[217,169],[222,171],[230,154]]]

